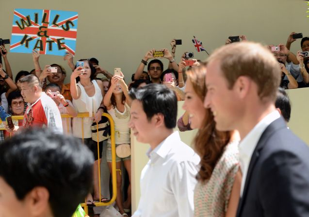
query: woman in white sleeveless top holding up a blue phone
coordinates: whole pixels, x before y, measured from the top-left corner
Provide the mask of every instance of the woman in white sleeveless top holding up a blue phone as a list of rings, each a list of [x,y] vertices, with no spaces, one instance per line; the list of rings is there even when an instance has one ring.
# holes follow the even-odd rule
[[[94,200],[100,200],[101,196],[98,189],[98,148],[97,143],[91,138],[91,125],[93,121],[99,122],[102,117],[104,89],[100,80],[94,80],[96,68],[92,66],[89,60],[79,60],[84,62],[84,67],[75,68],[71,74],[70,91],[73,98],[73,105],[78,113],[88,113],[89,117],[74,117],[72,120],[73,135],[78,138],[84,138],[84,144],[94,153],[94,196],[88,195],[86,203],[93,205]],[[83,128],[83,131],[81,130]],[[100,147],[101,148],[101,147]],[[101,151],[99,151],[101,154]]]

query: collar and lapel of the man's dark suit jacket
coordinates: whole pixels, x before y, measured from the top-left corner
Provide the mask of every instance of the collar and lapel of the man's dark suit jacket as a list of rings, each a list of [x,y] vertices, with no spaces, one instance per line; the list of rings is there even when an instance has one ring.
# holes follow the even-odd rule
[[[269,136],[273,133],[275,133],[278,129],[281,128],[286,128],[286,124],[283,120],[282,117],[277,118],[276,120],[274,120],[262,133],[262,135],[260,136],[260,139],[258,141],[258,144],[255,148],[255,150],[252,153],[251,156],[251,160],[249,163],[249,167],[248,167],[248,172],[247,172],[247,176],[245,179],[245,183],[244,183],[244,191],[243,191],[243,196],[240,198],[239,200],[239,205],[238,205],[238,209],[237,209],[237,217],[240,216],[242,208],[244,206],[244,201],[246,199],[246,193],[247,193],[247,188],[248,188],[248,184],[250,183],[250,179],[251,179],[251,175],[252,172],[254,170],[254,167],[260,157],[260,151],[263,149],[263,147],[266,144],[266,141],[268,140]]]

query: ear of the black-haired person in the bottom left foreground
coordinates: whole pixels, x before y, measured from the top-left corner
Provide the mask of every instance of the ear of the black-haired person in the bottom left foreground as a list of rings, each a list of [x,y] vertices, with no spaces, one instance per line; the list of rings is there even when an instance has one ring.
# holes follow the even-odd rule
[[[45,187],[34,187],[25,197],[32,216],[44,216],[50,212],[49,191]]]

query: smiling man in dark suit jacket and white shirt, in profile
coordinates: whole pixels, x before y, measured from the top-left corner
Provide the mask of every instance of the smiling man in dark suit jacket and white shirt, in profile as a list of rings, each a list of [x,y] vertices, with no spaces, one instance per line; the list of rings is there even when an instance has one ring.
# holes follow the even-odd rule
[[[260,44],[233,43],[208,59],[205,107],[216,128],[238,130],[238,217],[309,216],[309,147],[275,108],[280,68]]]

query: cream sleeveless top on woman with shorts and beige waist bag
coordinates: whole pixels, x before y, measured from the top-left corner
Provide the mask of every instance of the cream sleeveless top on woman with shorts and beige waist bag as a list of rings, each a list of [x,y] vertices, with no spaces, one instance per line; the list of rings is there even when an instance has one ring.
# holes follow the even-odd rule
[[[130,107],[125,103],[125,111],[123,113],[119,112],[115,107],[107,111],[113,117],[115,124],[115,144],[130,144]],[[107,140],[111,144],[111,139]]]

